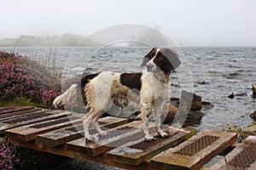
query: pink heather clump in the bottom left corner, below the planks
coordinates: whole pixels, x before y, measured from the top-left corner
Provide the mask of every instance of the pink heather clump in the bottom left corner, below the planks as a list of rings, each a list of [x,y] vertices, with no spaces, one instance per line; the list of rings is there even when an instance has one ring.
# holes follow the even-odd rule
[[[15,169],[20,163],[16,154],[17,144],[5,137],[0,141],[0,169]]]

